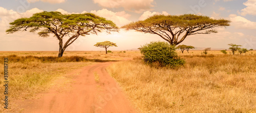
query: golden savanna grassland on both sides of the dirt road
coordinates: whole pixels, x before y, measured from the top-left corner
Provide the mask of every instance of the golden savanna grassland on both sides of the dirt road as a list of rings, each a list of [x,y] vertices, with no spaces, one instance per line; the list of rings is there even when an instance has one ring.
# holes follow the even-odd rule
[[[72,70],[97,62],[120,61],[107,71],[120,84],[139,112],[256,112],[256,52],[224,55],[220,51],[190,50],[178,54],[185,59],[177,69],[145,65],[139,51],[105,54],[103,51],[2,51],[0,62],[9,59],[10,107],[13,100],[33,98],[56,85],[72,82]],[[121,61],[131,58],[132,60]],[[3,92],[3,65],[0,66]],[[100,78],[99,78],[100,79]],[[97,79],[95,79],[97,80]],[[4,93],[0,93],[4,99]],[[2,103],[2,102],[1,102]],[[3,111],[1,104],[1,111]]]

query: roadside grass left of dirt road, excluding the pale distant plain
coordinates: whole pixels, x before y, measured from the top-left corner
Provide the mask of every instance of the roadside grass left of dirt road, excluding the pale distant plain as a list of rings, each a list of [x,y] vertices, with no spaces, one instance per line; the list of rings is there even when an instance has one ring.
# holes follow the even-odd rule
[[[65,74],[72,70],[92,64],[88,59],[79,56],[67,56],[57,58],[53,56],[0,56],[0,62],[4,63],[4,58],[8,58],[8,99],[23,100],[33,98],[40,92],[47,91],[51,86],[58,85],[54,81],[65,80]],[[0,86],[4,85],[4,65],[0,66]],[[68,81],[67,81],[68,80]],[[4,100],[4,87],[0,87],[0,99]],[[0,105],[4,108],[3,104]],[[0,109],[0,111],[1,111]],[[3,109],[2,109],[3,110]]]

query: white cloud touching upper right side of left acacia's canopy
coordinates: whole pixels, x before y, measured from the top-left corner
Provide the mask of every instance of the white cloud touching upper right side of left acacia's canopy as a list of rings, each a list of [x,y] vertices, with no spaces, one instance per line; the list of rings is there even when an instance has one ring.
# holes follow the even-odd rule
[[[128,19],[126,19],[126,17],[129,17],[130,14],[127,14],[124,11],[122,11],[122,12],[112,12],[112,11],[109,11],[107,9],[102,9],[102,10],[98,10],[98,11],[93,10],[93,11],[91,11],[91,13],[94,13],[98,16],[101,16],[101,17],[104,17],[106,19],[112,20],[118,26],[122,26],[122,25],[125,25],[125,24],[131,22]]]

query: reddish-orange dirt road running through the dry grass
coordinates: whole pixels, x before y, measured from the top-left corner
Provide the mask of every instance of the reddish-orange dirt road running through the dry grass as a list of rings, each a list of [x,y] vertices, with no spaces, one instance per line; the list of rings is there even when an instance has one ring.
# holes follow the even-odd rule
[[[113,62],[84,67],[68,91],[51,89],[28,100],[22,112],[136,112],[105,68]],[[99,80],[95,80],[95,76]],[[26,102],[26,101],[25,101]]]

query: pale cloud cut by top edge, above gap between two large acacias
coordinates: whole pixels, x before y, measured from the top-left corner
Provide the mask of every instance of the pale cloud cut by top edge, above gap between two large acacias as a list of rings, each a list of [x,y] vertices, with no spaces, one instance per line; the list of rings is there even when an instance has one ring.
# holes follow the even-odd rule
[[[151,8],[154,7],[152,3],[154,0],[93,0],[95,4],[98,4],[104,8],[124,8],[126,11],[142,13],[146,10],[152,10]]]

